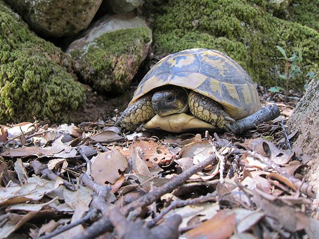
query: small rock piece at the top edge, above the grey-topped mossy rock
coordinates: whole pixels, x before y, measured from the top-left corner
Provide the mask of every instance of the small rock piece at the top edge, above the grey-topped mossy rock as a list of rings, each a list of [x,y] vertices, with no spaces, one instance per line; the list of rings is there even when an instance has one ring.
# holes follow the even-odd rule
[[[113,13],[126,13],[133,11],[142,2],[143,0],[104,0],[102,4]]]

